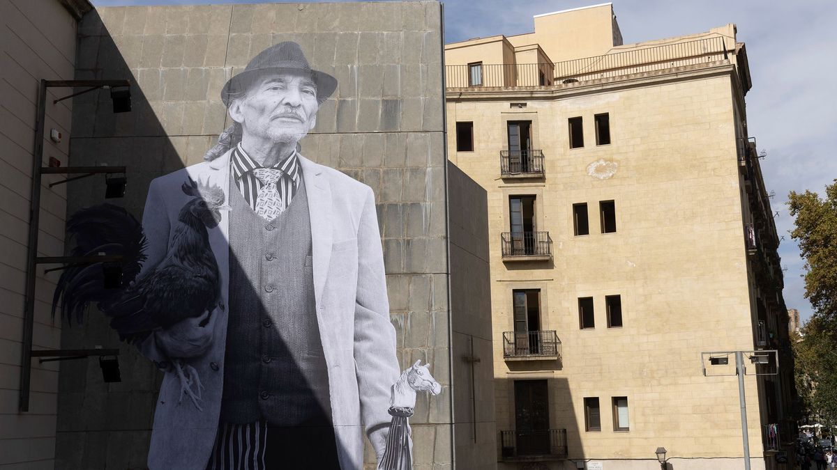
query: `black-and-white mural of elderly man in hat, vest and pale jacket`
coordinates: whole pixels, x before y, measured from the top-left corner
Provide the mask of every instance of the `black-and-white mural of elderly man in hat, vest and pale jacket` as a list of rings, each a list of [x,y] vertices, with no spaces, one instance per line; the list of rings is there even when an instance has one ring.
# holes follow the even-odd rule
[[[184,182],[226,201],[217,307],[141,344],[167,370],[151,468],[359,468],[364,430],[385,451],[400,370],[374,195],[298,146],[336,86],[297,43],[265,49],[224,85],[234,125],[207,161],[151,182],[146,266],[170,254]]]

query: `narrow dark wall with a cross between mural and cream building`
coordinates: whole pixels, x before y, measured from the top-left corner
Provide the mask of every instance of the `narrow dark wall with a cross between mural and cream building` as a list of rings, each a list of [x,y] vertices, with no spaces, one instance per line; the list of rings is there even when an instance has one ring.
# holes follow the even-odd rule
[[[488,206],[485,189],[448,163],[455,462],[496,467]]]

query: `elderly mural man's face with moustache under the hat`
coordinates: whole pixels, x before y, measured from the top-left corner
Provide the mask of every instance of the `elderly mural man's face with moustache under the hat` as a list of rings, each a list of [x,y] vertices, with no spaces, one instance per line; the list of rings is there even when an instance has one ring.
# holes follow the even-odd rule
[[[276,72],[234,100],[229,115],[244,134],[273,142],[296,142],[316,124],[316,84],[307,74]]]

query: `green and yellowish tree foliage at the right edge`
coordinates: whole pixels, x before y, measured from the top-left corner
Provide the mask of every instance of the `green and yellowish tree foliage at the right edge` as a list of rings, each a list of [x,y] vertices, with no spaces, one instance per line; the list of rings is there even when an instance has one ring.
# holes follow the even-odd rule
[[[791,192],[791,237],[805,260],[805,297],[814,315],[803,335],[792,337],[796,386],[803,406],[837,423],[837,180],[815,192]]]

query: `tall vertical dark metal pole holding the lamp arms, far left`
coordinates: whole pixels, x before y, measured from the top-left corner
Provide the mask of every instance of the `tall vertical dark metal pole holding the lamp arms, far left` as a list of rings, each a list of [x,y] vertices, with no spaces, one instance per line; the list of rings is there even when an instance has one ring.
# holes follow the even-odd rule
[[[35,319],[35,258],[38,257],[38,226],[41,207],[41,166],[44,161],[44,120],[46,119],[47,80],[42,79],[35,122],[32,152],[32,197],[29,199],[29,238],[26,258],[26,287],[23,300],[23,344],[20,360],[20,411],[29,411],[29,375],[32,372],[32,329]]]

